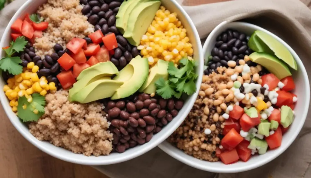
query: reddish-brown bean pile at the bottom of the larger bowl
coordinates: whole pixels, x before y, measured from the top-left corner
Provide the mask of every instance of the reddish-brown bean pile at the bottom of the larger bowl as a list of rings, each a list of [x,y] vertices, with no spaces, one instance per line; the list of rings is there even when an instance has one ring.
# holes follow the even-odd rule
[[[109,129],[114,134],[113,151],[122,153],[149,142],[153,134],[177,116],[183,101],[134,94],[118,101],[105,101],[104,106],[111,122]]]

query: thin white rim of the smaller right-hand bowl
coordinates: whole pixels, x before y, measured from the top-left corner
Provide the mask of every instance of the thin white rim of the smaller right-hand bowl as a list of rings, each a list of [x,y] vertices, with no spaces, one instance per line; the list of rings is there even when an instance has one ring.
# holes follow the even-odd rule
[[[252,27],[254,29],[257,30],[261,30],[264,32],[267,32],[269,34],[271,34],[273,37],[275,37],[278,41],[281,41],[285,44],[286,48],[289,49],[289,51],[292,53],[293,56],[295,56],[295,60],[299,66],[299,70],[302,71],[303,74],[303,79],[304,82],[307,86],[306,88],[306,98],[307,100],[305,100],[305,108],[304,108],[304,113],[302,114],[302,118],[300,118],[300,124],[299,126],[295,129],[295,132],[293,132],[292,136],[289,139],[289,142],[287,145],[285,145],[282,148],[278,148],[278,152],[276,152],[276,154],[274,154],[273,156],[270,156],[266,159],[262,159],[261,161],[258,161],[257,164],[253,164],[253,165],[248,165],[248,166],[244,166],[244,167],[234,167],[232,169],[227,169],[226,165],[224,164],[223,166],[219,166],[219,167],[208,167],[208,166],[202,166],[202,164],[200,163],[196,163],[193,161],[188,160],[185,156],[183,155],[187,155],[186,153],[183,152],[182,155],[178,154],[177,150],[179,150],[177,147],[173,146],[172,144],[170,144],[169,142],[167,142],[166,140],[164,142],[162,142],[158,147],[163,150],[164,152],[166,152],[168,155],[174,157],[175,159],[183,162],[184,164],[203,170],[203,171],[211,171],[211,172],[217,172],[217,173],[236,173],[236,172],[243,172],[243,171],[249,171],[252,169],[255,169],[259,166],[262,166],[264,164],[267,164],[268,162],[274,160],[276,157],[280,156],[296,139],[296,137],[298,136],[299,132],[301,131],[302,127],[304,126],[305,120],[307,118],[307,114],[308,114],[308,108],[309,108],[309,103],[310,103],[310,84],[309,84],[309,79],[308,79],[308,74],[306,69],[304,68],[304,65],[302,63],[302,61],[300,60],[299,56],[296,54],[296,52],[285,42],[283,41],[280,37],[276,36],[275,34],[273,34],[272,32],[251,24],[251,23],[247,23],[247,22],[228,22],[228,21],[224,21],[221,22],[218,26],[216,26],[211,33],[209,34],[209,36],[207,37],[206,41],[204,42],[203,45],[203,55],[205,56],[205,53],[207,52],[207,47],[208,47],[208,42],[211,41],[211,38],[215,35],[217,35],[216,33],[219,31],[219,29],[222,26],[226,26],[227,24],[235,24],[235,25],[241,25],[241,26],[248,26],[248,27]],[[188,155],[187,155],[188,156]],[[198,161],[203,161],[200,159],[197,159]]]

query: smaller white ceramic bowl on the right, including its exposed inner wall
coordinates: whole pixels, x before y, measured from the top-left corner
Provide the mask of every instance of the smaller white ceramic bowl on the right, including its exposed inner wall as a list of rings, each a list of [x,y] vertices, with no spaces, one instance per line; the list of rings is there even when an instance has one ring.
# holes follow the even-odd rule
[[[275,150],[269,150],[264,155],[253,156],[247,162],[239,161],[234,164],[225,165],[220,161],[219,162],[202,161],[202,160],[199,160],[197,158],[194,158],[192,156],[185,154],[183,151],[179,150],[177,147],[174,147],[169,142],[165,141],[159,145],[159,147],[164,152],[166,152],[170,156],[173,156],[177,160],[189,166],[192,166],[197,169],[204,170],[204,171],[211,171],[211,172],[218,172],[218,173],[235,173],[235,172],[248,171],[248,170],[257,168],[259,166],[262,166],[272,161],[277,156],[279,156],[281,153],[283,153],[290,146],[290,144],[295,140],[301,128],[303,127],[304,121],[307,117],[309,102],[310,102],[310,86],[309,86],[308,75],[298,55],[282,39],[280,39],[279,37],[277,37],[270,31],[267,31],[259,26],[256,26],[250,23],[244,23],[244,22],[231,22],[231,23],[222,22],[211,32],[211,34],[208,36],[207,40],[204,43],[203,53],[206,58],[209,55],[211,55],[211,50],[213,49],[216,43],[216,37],[220,35],[221,32],[225,31],[228,28],[242,31],[246,33],[248,36],[250,36],[255,30],[265,31],[268,34],[275,37],[278,41],[280,41],[282,44],[286,46],[286,48],[294,56],[297,62],[297,65],[298,65],[298,71],[293,71],[293,70],[291,71],[293,78],[295,80],[295,84],[296,84],[296,89],[294,93],[297,94],[298,101],[296,103],[295,110],[294,110],[295,120],[292,123],[290,129],[284,134],[281,147]]]

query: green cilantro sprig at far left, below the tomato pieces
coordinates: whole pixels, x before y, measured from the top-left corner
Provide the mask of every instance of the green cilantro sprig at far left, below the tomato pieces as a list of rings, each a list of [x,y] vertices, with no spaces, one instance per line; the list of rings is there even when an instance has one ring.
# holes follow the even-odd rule
[[[24,36],[19,36],[16,38],[15,42],[11,41],[10,46],[3,49],[6,56],[0,60],[0,69],[8,71],[12,75],[21,74],[23,71],[23,66],[21,66],[21,58],[18,56],[13,56],[16,52],[24,51],[27,44]]]

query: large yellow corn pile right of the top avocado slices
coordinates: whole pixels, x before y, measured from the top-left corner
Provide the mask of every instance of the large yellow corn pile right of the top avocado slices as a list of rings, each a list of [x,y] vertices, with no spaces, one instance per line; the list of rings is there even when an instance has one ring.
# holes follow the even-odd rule
[[[177,14],[170,13],[161,6],[137,49],[141,50],[143,57],[148,58],[151,66],[159,59],[176,64],[182,57],[193,55],[192,45],[186,33]]]

